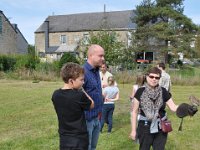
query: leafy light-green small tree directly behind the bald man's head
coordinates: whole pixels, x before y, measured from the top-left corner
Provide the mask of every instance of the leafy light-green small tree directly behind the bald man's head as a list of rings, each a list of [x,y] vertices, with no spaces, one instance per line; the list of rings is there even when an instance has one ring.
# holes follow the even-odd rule
[[[87,44],[84,44],[84,42],[81,43],[82,46],[86,46],[86,49],[91,44],[101,45],[105,50],[105,60],[108,65],[121,65],[124,63],[124,60],[130,58],[129,51],[126,49],[125,44],[119,41],[119,35],[115,31],[101,30],[90,32]],[[84,52],[86,57],[87,50]]]

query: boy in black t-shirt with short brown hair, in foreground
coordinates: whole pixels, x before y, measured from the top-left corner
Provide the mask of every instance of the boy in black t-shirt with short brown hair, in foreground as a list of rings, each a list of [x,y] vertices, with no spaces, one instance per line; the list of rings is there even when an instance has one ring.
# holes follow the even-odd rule
[[[84,110],[94,107],[93,100],[81,90],[84,69],[75,63],[66,63],[60,72],[64,86],[52,95],[58,117],[60,150],[87,150],[89,139]]]

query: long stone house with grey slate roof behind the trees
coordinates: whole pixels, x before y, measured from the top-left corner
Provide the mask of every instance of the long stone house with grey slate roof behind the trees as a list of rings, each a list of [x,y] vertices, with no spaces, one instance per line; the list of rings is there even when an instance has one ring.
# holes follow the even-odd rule
[[[133,10],[48,16],[35,31],[35,47],[44,60],[59,60],[64,52],[75,52],[80,39],[90,31],[116,31],[120,41],[130,44]]]

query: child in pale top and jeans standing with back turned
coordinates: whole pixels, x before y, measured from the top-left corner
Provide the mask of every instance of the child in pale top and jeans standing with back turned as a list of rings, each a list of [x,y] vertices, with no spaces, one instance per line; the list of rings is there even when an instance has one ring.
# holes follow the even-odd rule
[[[114,101],[119,100],[119,89],[115,86],[115,79],[113,76],[108,77],[108,86],[103,90],[104,104],[101,118],[101,131],[104,126],[104,122],[108,119],[108,133],[112,130],[112,118],[115,109]]]

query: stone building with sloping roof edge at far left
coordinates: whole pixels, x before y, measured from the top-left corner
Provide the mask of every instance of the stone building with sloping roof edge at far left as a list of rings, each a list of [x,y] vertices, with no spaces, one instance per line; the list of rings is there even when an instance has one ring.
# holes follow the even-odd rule
[[[28,42],[17,24],[11,24],[0,10],[0,54],[25,54]]]

